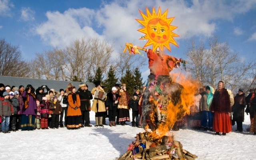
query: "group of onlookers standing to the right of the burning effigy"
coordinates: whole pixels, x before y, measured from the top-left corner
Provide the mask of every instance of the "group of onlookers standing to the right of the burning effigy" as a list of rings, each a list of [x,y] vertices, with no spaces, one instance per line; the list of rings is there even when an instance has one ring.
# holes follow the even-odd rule
[[[190,115],[185,118],[185,123],[196,126],[195,128],[203,127],[205,131],[214,131],[214,135],[226,136],[235,124],[235,131],[243,132],[242,122],[246,113],[250,114],[250,132],[256,134],[255,89],[250,89],[250,94],[246,95],[244,89],[240,88],[234,97],[231,90],[224,88],[224,82],[219,81],[218,88],[214,94],[213,92],[211,86],[206,86],[195,94],[192,108],[196,109],[190,108]]]

